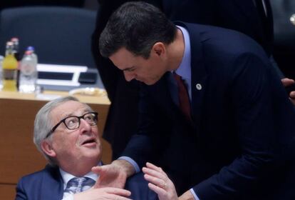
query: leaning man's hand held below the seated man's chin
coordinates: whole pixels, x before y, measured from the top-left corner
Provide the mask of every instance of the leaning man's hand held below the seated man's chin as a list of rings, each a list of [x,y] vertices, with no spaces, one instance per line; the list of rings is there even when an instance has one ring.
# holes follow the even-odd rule
[[[115,160],[112,164],[94,166],[92,171],[99,175],[94,188],[115,187],[123,189],[128,176],[135,173],[133,166],[125,160]]]

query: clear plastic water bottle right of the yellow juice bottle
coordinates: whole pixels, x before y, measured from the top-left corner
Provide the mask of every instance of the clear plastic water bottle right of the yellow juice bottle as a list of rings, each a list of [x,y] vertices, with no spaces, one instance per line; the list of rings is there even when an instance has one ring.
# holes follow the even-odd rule
[[[38,78],[37,64],[31,51],[26,51],[21,59],[21,74],[19,76],[19,91],[33,93],[36,89]]]

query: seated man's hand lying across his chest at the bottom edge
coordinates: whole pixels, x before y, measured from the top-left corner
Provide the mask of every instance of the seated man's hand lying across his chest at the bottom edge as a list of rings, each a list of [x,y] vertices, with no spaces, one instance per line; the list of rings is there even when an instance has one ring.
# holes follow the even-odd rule
[[[106,199],[115,199],[115,200],[128,200],[127,196],[130,196],[131,193],[125,189],[118,188],[101,188],[101,189],[88,189],[78,194],[73,195],[74,200],[106,200]]]

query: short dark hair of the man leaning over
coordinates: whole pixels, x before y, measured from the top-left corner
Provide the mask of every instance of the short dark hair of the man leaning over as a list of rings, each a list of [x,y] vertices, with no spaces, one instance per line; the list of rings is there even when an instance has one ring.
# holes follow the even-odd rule
[[[160,9],[143,1],[131,1],[110,16],[100,34],[100,54],[109,57],[125,47],[135,56],[148,59],[152,46],[158,41],[170,44],[176,30],[175,24]]]

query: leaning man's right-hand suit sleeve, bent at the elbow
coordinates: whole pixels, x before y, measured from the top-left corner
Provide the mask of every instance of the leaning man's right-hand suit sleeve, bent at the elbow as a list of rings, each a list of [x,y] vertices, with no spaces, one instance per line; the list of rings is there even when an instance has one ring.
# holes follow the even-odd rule
[[[291,133],[291,104],[279,78],[266,61],[245,54],[234,61],[230,72],[229,95],[232,98],[242,154],[217,174],[193,187],[200,199],[239,199],[276,179],[282,146]],[[286,137],[285,137],[286,136]]]

